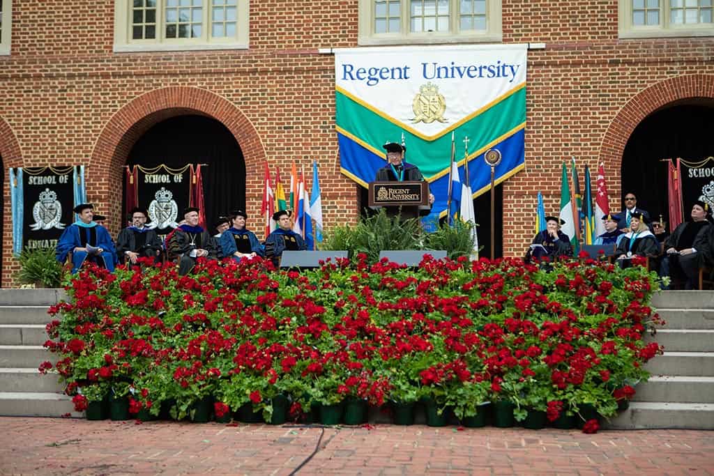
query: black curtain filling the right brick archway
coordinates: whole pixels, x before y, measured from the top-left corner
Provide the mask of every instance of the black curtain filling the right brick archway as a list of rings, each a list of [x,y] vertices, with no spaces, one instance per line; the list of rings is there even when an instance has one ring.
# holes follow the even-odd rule
[[[700,161],[714,156],[714,107],[682,105],[657,111],[635,128],[622,161],[623,190],[637,196],[637,205],[653,218],[668,218],[667,164],[663,158]],[[685,207],[686,208],[686,207]],[[684,217],[689,218],[685,209]]]

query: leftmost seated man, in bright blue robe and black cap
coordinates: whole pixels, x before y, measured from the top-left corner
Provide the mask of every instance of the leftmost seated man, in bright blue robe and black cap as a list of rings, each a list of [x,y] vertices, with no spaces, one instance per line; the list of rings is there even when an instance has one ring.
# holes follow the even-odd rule
[[[55,250],[57,260],[64,263],[71,255],[72,273],[76,273],[86,261],[114,271],[114,243],[106,228],[93,221],[94,205],[81,203],[74,207],[74,213],[79,215],[79,220],[65,228],[59,237]]]

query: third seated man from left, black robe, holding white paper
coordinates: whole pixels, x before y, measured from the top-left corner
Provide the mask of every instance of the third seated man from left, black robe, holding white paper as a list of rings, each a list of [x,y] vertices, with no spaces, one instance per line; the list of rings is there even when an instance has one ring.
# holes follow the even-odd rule
[[[183,211],[185,224],[178,226],[169,238],[169,254],[178,257],[178,274],[191,273],[197,258],[216,259],[216,243],[213,237],[198,226],[198,208],[188,207]]]

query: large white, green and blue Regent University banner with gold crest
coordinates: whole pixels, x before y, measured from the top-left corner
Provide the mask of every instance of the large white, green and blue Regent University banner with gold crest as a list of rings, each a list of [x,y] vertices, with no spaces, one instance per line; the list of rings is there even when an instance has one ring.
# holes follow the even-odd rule
[[[433,212],[446,213],[453,131],[474,197],[491,186],[489,148],[503,156],[497,183],[513,176],[525,158],[526,56],[525,44],[336,49],[342,173],[366,187],[386,165],[383,144],[403,136],[405,161],[436,197]]]

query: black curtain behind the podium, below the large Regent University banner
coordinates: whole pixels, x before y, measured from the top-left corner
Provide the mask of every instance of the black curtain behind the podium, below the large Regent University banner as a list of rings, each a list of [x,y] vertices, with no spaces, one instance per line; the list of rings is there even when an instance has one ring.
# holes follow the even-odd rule
[[[359,188],[359,199],[362,208],[363,216],[371,216],[374,211],[367,207],[369,201],[369,194],[366,188]],[[496,206],[494,207],[496,211],[496,219],[494,220],[494,225],[496,227],[496,233],[494,233],[495,248],[494,253],[496,257],[503,256],[503,186],[496,186]],[[491,257],[491,191],[483,193],[478,196],[473,201],[473,213],[476,214],[476,223],[478,223],[478,228],[476,233],[478,233],[478,245],[481,248],[479,256]],[[523,255],[526,251],[523,251]]]

